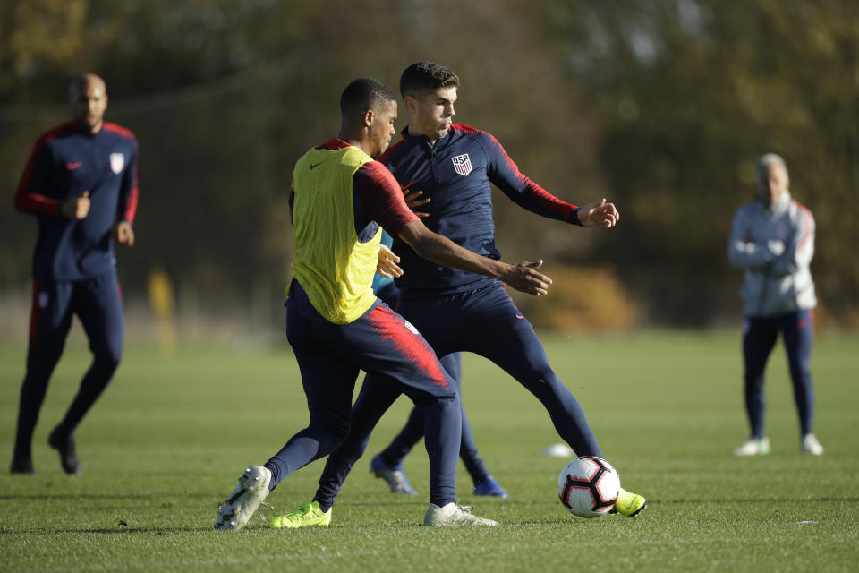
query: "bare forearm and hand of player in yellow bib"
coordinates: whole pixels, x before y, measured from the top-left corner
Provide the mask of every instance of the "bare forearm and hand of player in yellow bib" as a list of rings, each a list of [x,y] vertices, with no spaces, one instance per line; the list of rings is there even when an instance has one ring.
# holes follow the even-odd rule
[[[537,271],[543,261],[520,262],[512,265],[494,261],[455,244],[445,236],[430,231],[421,221],[403,227],[399,236],[419,256],[454,269],[499,278],[516,290],[529,295],[545,295],[552,279]]]

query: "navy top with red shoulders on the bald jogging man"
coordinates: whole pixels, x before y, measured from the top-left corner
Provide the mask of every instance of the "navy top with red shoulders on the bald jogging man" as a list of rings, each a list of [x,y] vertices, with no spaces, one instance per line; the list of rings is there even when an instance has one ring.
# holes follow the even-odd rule
[[[85,191],[87,217],[64,217],[64,201]],[[69,122],[43,133],[15,192],[15,207],[38,218],[33,278],[81,280],[106,274],[116,262],[114,224],[133,224],[137,201],[132,132],[105,123],[98,133],[89,133]]]

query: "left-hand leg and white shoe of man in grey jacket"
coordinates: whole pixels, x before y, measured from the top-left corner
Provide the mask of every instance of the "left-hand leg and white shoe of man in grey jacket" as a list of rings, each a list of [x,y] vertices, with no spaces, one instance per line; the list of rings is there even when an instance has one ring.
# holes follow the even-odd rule
[[[770,453],[770,441],[764,432],[763,373],[777,338],[778,327],[772,319],[746,317],[743,329],[744,398],[750,435],[734,450],[735,456]]]

